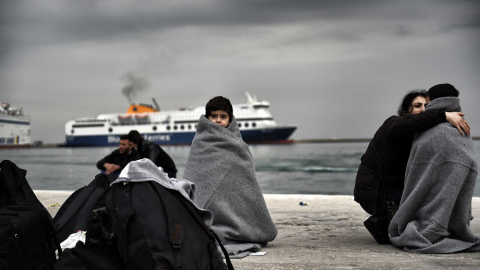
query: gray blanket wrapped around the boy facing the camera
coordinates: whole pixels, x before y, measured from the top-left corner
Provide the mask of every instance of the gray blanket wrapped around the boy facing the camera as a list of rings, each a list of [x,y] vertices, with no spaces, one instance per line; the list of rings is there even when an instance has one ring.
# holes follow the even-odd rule
[[[194,202],[213,212],[212,229],[231,258],[255,252],[277,236],[235,118],[224,128],[200,117],[184,178],[196,185]]]

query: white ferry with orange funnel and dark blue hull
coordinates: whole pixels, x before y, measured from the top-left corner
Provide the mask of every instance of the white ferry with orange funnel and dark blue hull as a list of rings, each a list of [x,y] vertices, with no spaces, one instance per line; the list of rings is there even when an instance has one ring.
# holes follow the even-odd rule
[[[294,125],[278,125],[268,101],[247,95],[247,103],[232,105],[242,138],[247,143],[291,143]],[[163,145],[191,144],[205,107],[160,111],[153,104],[132,104],[126,113],[101,114],[70,120],[65,125],[66,146],[117,146],[120,136],[138,130],[143,138]]]

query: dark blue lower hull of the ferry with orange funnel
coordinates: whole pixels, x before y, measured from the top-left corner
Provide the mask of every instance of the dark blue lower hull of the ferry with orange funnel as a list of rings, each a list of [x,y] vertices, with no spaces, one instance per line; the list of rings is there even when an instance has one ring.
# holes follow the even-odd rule
[[[295,131],[296,127],[276,127],[272,129],[241,130],[242,138],[246,143],[291,143],[288,138]],[[160,145],[189,145],[192,143],[195,132],[175,133],[142,133],[142,136],[149,141]],[[104,135],[67,135],[65,146],[118,146],[120,134]]]

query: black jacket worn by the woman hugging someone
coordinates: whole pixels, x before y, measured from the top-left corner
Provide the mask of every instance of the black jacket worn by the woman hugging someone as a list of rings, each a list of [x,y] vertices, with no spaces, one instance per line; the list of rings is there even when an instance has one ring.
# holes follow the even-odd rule
[[[391,194],[394,190],[403,190],[405,168],[415,133],[443,122],[446,122],[444,109],[394,115],[385,120],[361,158],[353,191],[355,201],[369,205],[373,213],[377,211],[378,201],[384,197],[378,176],[379,159],[385,173],[386,192]]]

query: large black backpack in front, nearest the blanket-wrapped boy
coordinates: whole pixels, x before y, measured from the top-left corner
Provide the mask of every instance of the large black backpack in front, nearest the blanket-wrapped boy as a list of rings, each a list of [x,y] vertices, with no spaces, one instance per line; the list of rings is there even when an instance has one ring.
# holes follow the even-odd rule
[[[178,191],[154,181],[122,182],[111,186],[105,204],[127,269],[227,268],[213,231]]]

